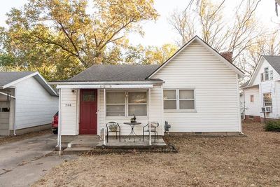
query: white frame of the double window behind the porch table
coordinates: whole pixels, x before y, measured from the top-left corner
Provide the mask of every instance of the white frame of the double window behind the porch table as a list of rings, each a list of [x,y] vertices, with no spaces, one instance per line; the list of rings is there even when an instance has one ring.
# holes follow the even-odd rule
[[[106,95],[107,92],[124,92],[125,93],[125,116],[107,116],[107,111],[106,111],[106,118],[131,118],[133,116],[129,116],[128,115],[128,106],[129,105],[144,105],[146,104],[146,109],[147,109],[147,113],[146,116],[139,116],[139,118],[147,118],[148,117],[148,90],[106,90]],[[146,103],[128,103],[128,97],[129,97],[129,92],[146,92]],[[121,105],[121,104],[107,104],[107,99],[105,101],[106,103],[106,108],[107,105]],[[136,115],[137,117],[137,115]]]

